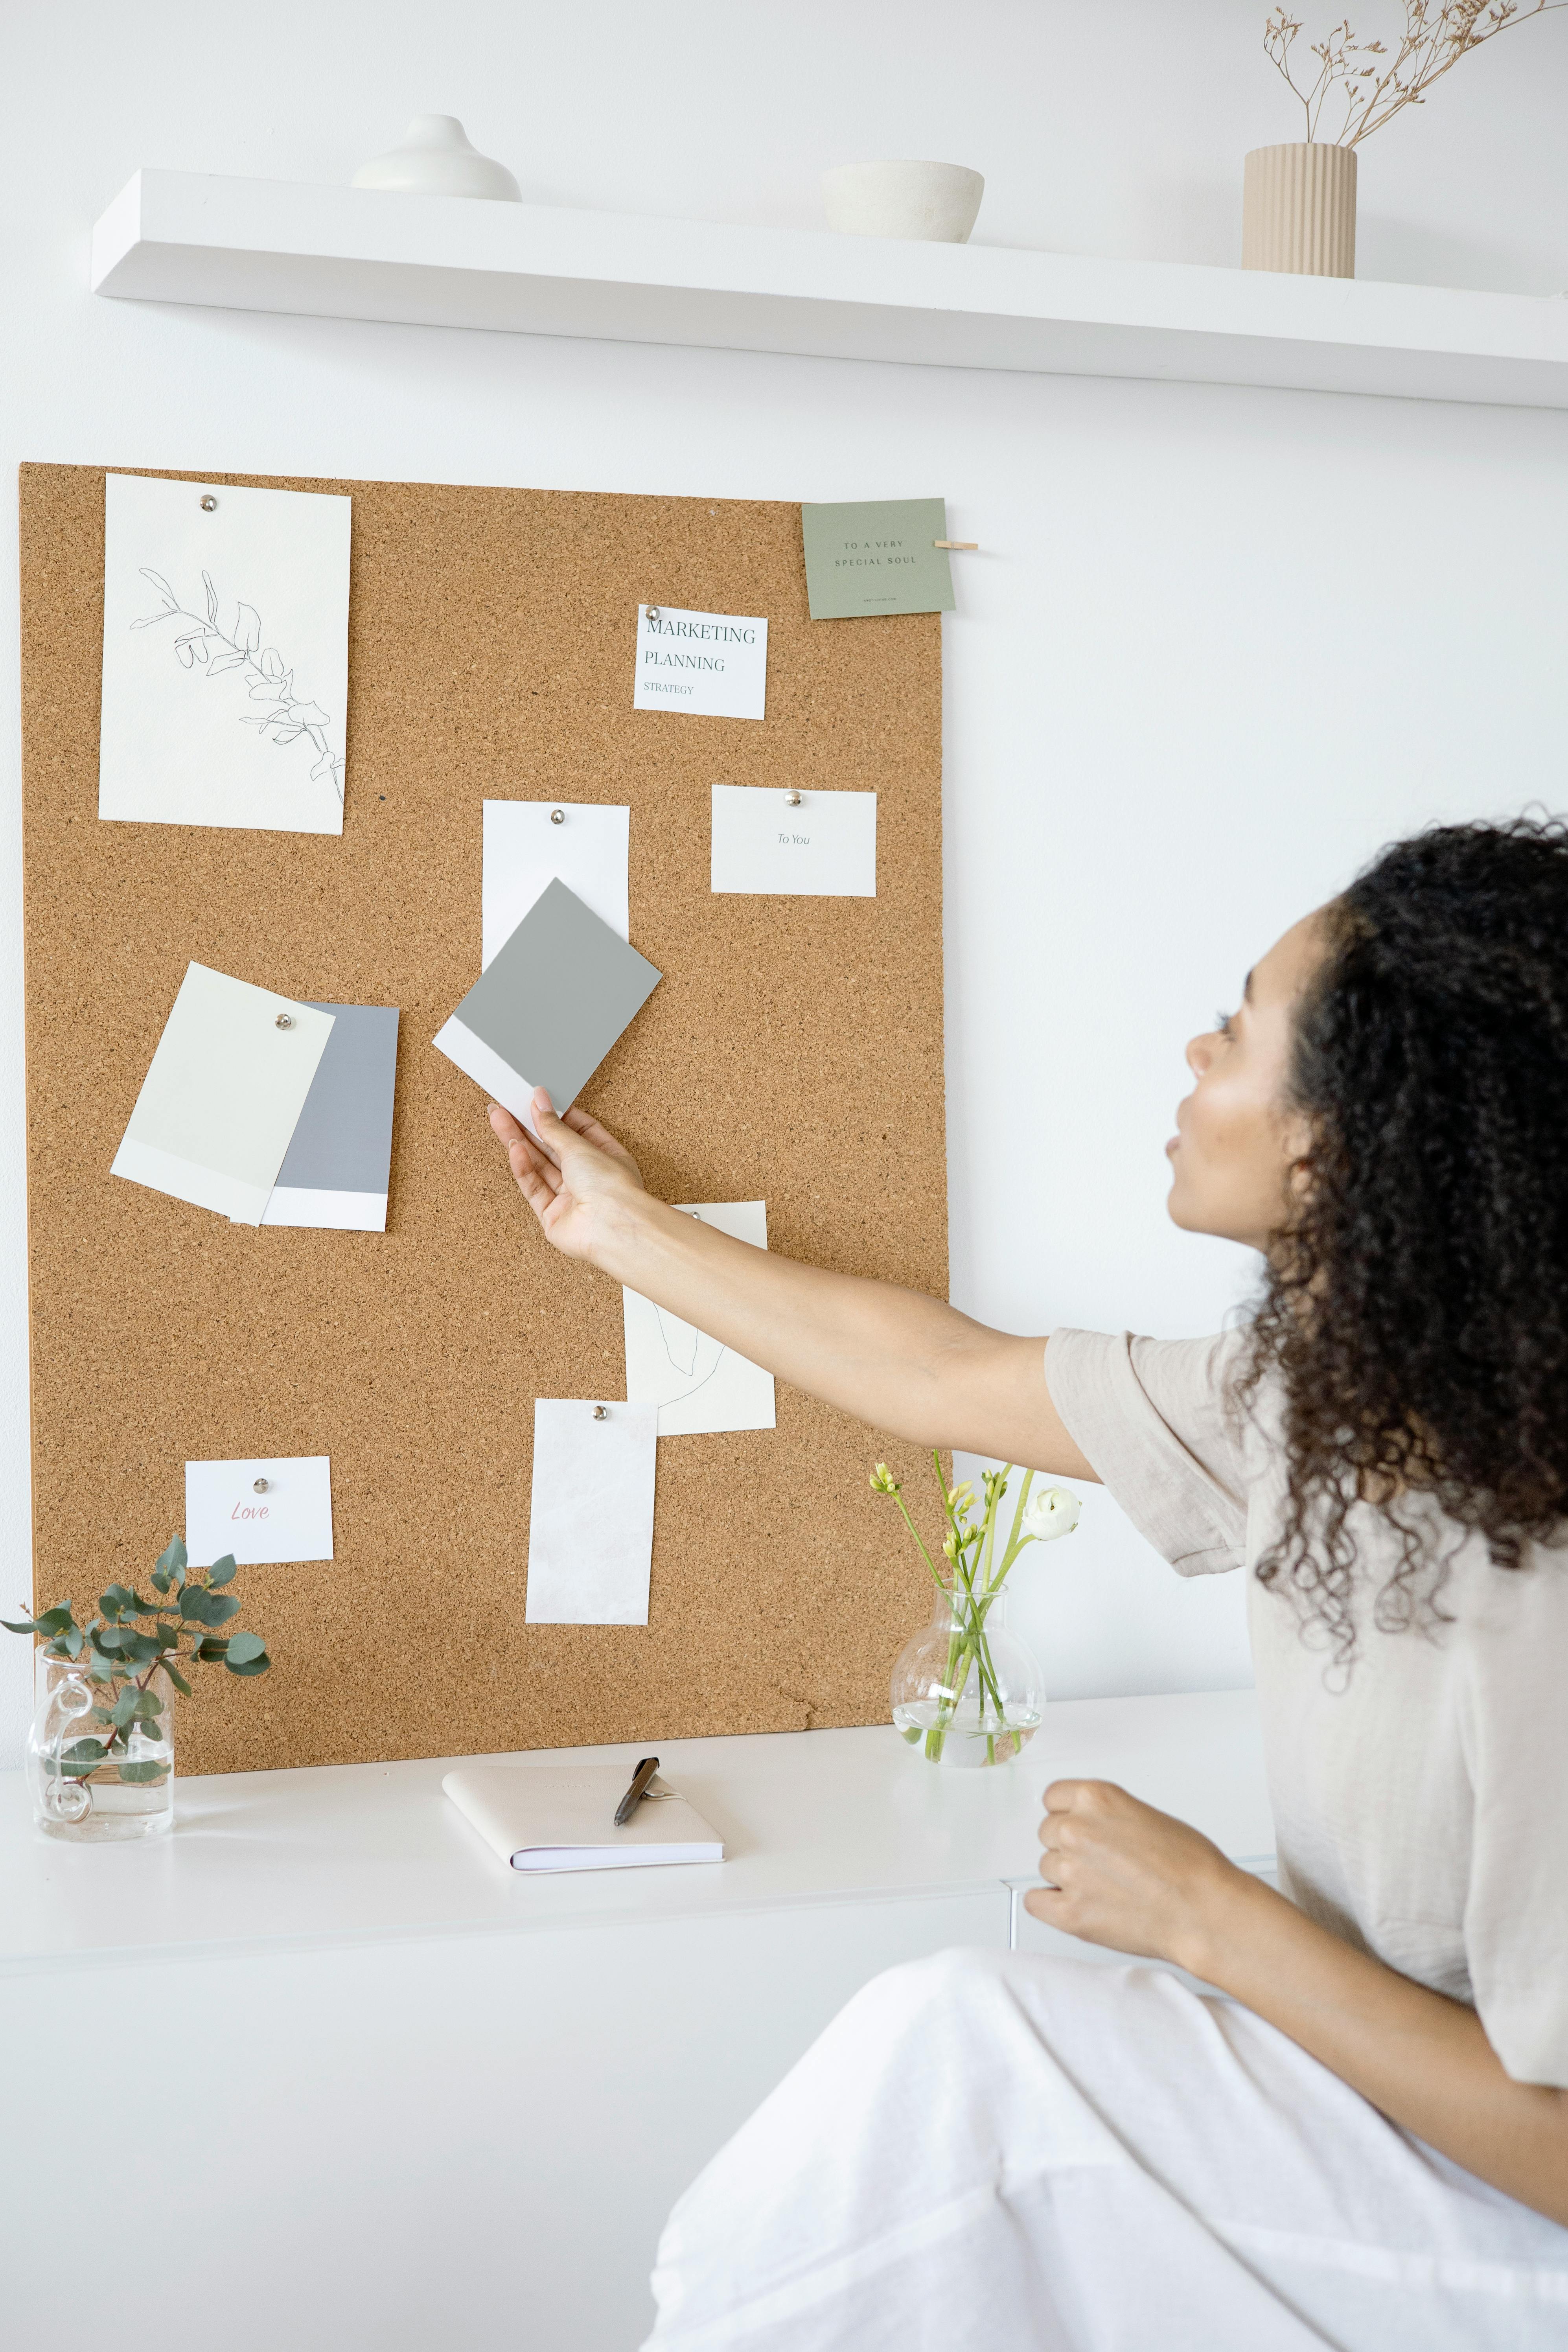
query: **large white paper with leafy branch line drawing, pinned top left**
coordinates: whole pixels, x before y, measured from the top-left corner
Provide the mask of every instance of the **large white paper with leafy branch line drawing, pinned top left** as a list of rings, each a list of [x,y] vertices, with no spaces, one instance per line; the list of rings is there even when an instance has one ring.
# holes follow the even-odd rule
[[[106,477],[99,816],[343,830],[350,515]]]

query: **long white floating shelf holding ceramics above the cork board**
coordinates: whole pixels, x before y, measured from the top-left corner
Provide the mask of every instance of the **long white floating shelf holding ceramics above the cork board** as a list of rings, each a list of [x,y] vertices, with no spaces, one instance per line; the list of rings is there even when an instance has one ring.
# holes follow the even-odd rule
[[[96,294],[308,318],[1568,407],[1568,301],[136,172]]]

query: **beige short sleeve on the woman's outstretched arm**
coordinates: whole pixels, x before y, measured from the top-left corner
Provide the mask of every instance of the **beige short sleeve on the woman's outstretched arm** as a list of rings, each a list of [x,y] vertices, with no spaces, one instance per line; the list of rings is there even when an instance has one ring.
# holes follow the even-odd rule
[[[1237,1331],[1046,1341],[1046,1388],[1067,1435],[1180,1576],[1239,1569],[1246,1555],[1246,1423],[1227,1392],[1241,1343]]]

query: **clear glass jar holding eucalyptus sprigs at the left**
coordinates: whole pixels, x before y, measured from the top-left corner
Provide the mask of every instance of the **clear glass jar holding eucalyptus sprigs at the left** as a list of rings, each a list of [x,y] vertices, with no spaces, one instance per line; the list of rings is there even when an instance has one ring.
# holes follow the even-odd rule
[[[174,1823],[174,1689],[162,1665],[127,1679],[136,1700],[125,1740],[108,1748],[115,1691],[94,1682],[85,1658],[38,1656],[38,1712],[28,1733],[33,1820],[45,1837],[106,1844],[158,1837]]]

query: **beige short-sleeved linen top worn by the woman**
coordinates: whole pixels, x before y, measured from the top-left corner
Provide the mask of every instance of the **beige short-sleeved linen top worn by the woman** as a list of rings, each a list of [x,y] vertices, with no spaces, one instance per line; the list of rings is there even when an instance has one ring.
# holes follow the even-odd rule
[[[1286,1477],[1267,1409],[1227,1399],[1244,1334],[1056,1331],[1046,1385],[1128,1519],[1180,1576],[1251,1569]],[[1448,1550],[1460,1529],[1429,1512]],[[1568,2084],[1568,1552],[1495,1569],[1460,1543],[1453,1618],[1380,1632],[1371,1595],[1399,1541],[1371,1505],[1349,1679],[1291,1595],[1248,1576],[1248,1630],[1279,1884],[1347,1943],[1469,2002],[1507,2072]]]

